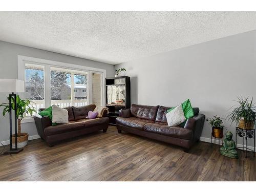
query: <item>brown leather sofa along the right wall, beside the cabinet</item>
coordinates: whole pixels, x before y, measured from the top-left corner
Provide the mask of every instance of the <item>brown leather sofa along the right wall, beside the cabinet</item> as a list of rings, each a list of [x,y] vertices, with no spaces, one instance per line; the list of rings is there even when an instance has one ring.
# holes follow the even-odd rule
[[[131,109],[119,111],[116,118],[118,133],[126,131],[143,137],[156,139],[184,147],[187,151],[199,141],[205,115],[199,114],[199,108],[193,108],[194,117],[187,119],[184,127],[168,126],[166,106],[147,106],[132,104]]]

